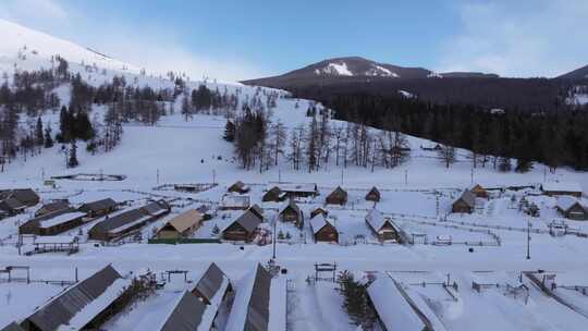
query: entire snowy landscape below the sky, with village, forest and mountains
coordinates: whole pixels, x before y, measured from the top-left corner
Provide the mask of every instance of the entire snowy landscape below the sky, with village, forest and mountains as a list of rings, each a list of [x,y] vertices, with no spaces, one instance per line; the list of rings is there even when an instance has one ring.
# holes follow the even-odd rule
[[[588,330],[581,70],[232,83],[0,15],[0,330]]]

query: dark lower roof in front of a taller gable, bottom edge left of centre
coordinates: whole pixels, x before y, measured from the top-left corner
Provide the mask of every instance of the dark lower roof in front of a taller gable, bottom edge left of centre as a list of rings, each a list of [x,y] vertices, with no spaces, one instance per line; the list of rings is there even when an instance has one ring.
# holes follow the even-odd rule
[[[212,320],[204,321],[203,317],[206,311],[206,305],[200,302],[194,294],[188,291],[180,296],[180,299],[174,305],[161,331],[194,331],[209,330]],[[206,322],[206,326],[200,326]]]

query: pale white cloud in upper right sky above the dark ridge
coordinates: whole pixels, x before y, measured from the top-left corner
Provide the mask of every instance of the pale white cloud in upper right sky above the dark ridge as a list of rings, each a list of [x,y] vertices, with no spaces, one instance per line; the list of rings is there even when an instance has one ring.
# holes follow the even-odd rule
[[[443,42],[438,68],[503,76],[556,76],[588,62],[588,1],[467,2],[462,29]]]

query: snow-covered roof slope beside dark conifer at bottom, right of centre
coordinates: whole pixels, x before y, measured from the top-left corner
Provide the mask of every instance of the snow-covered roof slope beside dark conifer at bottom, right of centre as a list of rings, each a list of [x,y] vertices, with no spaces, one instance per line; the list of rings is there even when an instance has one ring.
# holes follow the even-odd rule
[[[406,302],[392,279],[380,275],[367,291],[378,317],[388,330],[426,330],[427,324]]]

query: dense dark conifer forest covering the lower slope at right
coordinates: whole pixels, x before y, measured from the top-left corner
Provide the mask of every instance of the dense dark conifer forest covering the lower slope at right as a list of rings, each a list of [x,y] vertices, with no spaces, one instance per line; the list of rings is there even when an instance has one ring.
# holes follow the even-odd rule
[[[514,158],[517,171],[528,170],[531,161],[588,170],[587,106],[531,113],[367,94],[323,94],[318,100],[335,109],[340,120],[379,128],[395,125],[406,134],[469,149],[474,167],[492,160],[493,167],[507,171]]]

